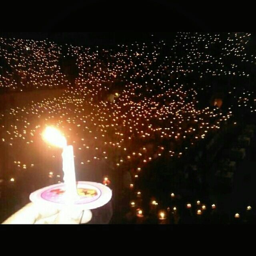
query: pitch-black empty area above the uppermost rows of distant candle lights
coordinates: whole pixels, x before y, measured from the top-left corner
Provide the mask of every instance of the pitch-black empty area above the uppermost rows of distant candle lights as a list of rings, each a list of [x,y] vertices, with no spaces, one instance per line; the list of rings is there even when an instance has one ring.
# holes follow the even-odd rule
[[[239,6],[223,1],[26,1],[5,2],[3,10],[0,36],[103,47],[146,42],[152,34],[153,40],[172,42],[170,31],[250,31],[254,24],[254,10],[246,1]],[[253,33],[251,42],[256,42]]]

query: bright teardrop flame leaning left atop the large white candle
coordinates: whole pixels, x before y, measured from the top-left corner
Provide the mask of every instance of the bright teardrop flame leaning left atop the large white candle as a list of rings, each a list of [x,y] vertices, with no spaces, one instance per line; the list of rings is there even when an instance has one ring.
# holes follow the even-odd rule
[[[59,148],[64,148],[67,145],[66,138],[56,128],[47,126],[42,134],[43,139]]]

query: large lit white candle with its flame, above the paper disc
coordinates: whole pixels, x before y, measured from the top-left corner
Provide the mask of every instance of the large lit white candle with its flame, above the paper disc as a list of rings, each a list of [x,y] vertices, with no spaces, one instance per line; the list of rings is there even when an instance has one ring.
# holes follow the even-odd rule
[[[74,202],[78,198],[76,188],[76,173],[74,165],[73,146],[68,146],[66,138],[53,127],[48,126],[44,133],[43,138],[50,144],[63,148],[62,152],[62,170],[64,172],[65,196],[66,202]]]

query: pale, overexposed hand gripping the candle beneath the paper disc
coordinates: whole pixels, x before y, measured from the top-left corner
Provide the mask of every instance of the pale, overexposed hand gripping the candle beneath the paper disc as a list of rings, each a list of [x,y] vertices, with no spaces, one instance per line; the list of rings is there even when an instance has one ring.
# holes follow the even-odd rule
[[[34,203],[26,204],[23,208],[14,213],[2,224],[84,224],[92,219],[92,212],[73,212],[70,218],[66,217],[65,212],[54,208],[38,208]]]

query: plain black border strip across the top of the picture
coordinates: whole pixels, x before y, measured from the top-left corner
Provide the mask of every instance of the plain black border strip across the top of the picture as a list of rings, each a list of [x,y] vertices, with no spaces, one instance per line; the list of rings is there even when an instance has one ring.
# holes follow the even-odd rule
[[[1,4],[2,31],[237,31],[248,30],[254,24],[254,8],[251,8],[252,2],[249,1],[239,5],[223,1],[196,3],[168,0]]]

